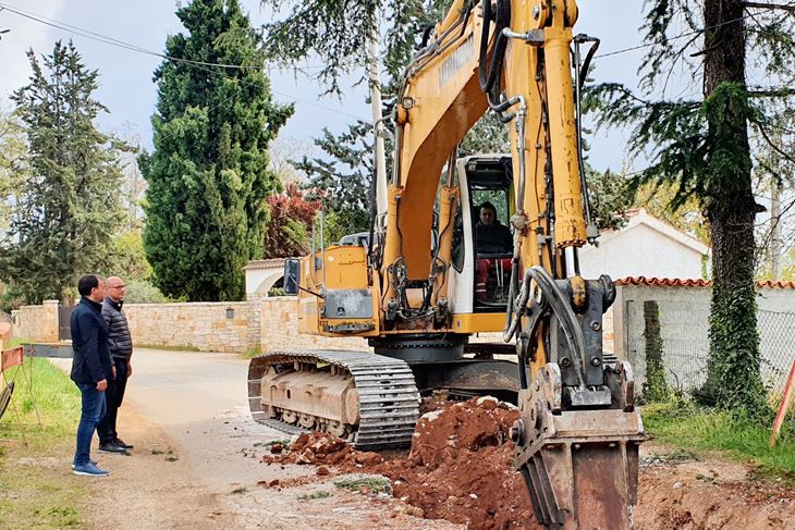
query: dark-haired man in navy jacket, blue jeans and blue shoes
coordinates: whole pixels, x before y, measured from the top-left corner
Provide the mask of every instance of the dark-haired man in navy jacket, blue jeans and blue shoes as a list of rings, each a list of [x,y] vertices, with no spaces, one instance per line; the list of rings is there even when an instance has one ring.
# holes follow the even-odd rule
[[[105,391],[113,379],[113,365],[108,350],[108,325],[102,318],[105,284],[94,274],[77,282],[81,301],[72,311],[72,381],[81,390],[83,406],[77,426],[77,448],[74,454],[74,473],[103,477],[108,471],[99,469],[90,459],[91,437],[97,423],[105,416]]]

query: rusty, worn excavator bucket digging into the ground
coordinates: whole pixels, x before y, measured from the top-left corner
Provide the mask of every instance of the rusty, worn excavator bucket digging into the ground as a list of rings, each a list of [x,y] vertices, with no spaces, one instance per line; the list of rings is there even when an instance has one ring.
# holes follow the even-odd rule
[[[632,371],[606,368],[610,408],[563,409],[560,369],[548,363],[519,393],[516,467],[539,521],[553,529],[632,529],[638,446],[645,440],[632,403]]]

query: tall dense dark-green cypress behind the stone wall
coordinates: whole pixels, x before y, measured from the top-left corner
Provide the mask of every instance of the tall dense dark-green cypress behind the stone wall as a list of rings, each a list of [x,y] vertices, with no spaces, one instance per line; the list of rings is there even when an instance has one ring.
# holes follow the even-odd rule
[[[144,245],[163,294],[236,300],[243,267],[265,252],[267,197],[280,189],[268,143],[293,112],[274,104],[260,38],[237,0],[178,10],[187,29],[168,38],[152,116]]]

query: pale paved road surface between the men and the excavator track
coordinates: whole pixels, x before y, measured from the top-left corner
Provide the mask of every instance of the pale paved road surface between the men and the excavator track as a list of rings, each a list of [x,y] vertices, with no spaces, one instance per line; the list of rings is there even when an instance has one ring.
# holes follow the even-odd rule
[[[52,359],[69,371],[72,359]],[[179,457],[215,489],[256,482],[260,469],[241,454],[286,434],[256,423],[248,414],[248,361],[235,354],[135,349],[117,430],[125,442],[125,406],[174,442]]]

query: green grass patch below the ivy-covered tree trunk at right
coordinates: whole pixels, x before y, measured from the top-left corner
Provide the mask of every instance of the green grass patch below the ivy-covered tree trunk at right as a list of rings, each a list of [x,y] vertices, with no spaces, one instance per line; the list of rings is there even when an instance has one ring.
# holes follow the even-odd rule
[[[644,426],[656,441],[683,452],[719,452],[734,460],[753,463],[760,471],[795,481],[795,414],[791,411],[775,447],[768,441],[770,426],[733,418],[722,411],[686,402],[647,405]]]

